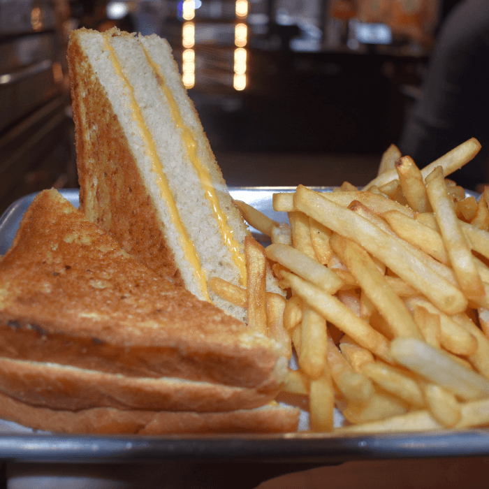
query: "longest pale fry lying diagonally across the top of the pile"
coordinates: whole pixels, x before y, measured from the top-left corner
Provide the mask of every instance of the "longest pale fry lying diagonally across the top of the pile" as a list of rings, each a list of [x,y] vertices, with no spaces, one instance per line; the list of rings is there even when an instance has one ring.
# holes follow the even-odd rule
[[[335,233],[358,242],[447,314],[462,312],[467,307],[467,299],[459,289],[426,267],[407,248],[367,219],[321,198],[302,185],[295,193],[294,203],[302,212]]]

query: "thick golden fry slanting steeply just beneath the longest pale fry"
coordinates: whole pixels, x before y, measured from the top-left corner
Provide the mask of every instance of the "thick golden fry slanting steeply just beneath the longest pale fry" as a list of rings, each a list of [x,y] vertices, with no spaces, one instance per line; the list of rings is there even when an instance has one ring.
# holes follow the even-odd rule
[[[357,279],[363,293],[370,298],[377,310],[384,316],[393,335],[421,339],[421,333],[406,305],[388,286],[384,275],[381,274],[370,255],[355,242],[345,240],[340,235],[333,237],[331,245]]]

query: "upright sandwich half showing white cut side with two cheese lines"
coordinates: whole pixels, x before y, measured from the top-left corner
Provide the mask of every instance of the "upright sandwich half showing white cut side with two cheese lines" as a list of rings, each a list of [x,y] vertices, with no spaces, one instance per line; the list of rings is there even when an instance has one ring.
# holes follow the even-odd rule
[[[80,209],[149,268],[246,320],[207,279],[246,286],[245,236],[170,46],[79,29],[68,46]],[[281,293],[272,275],[268,289]]]

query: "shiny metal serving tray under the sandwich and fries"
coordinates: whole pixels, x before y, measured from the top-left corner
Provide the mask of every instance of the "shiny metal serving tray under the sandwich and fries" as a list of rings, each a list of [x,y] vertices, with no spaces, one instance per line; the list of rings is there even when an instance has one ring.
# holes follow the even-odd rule
[[[235,199],[258,208],[277,221],[286,216],[272,210],[272,194],[293,191],[278,187],[231,187]],[[320,190],[329,191],[327,187]],[[78,191],[61,190],[78,207]],[[0,254],[15,236],[22,216],[34,199],[25,196],[10,205],[0,219]],[[263,240],[256,230],[254,234]],[[280,462],[328,465],[347,460],[435,458],[489,455],[489,430],[386,435],[330,436],[309,432],[285,435],[73,436],[35,432],[0,421],[0,460],[15,462]],[[286,472],[286,470],[284,470]]]

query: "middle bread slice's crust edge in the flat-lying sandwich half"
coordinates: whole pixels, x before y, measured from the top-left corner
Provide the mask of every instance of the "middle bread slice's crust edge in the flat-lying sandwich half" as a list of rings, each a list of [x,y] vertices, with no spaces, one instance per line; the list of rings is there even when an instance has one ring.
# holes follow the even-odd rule
[[[32,406],[68,411],[115,407],[220,412],[263,406],[273,397],[249,388],[165,377],[126,377],[9,358],[0,358],[0,392]]]

